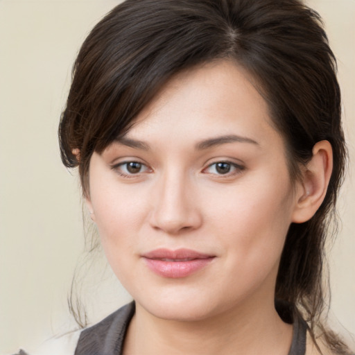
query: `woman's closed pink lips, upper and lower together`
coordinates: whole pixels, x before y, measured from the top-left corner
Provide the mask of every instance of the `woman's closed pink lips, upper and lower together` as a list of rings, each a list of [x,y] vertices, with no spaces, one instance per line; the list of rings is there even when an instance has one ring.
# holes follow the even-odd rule
[[[157,249],[142,255],[150,270],[162,277],[173,279],[187,277],[205,268],[214,255],[202,254],[189,249]]]

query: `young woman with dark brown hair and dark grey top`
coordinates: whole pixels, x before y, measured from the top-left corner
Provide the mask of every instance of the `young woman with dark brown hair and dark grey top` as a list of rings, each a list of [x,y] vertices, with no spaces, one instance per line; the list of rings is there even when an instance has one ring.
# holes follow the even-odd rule
[[[349,354],[320,320],[346,148],[336,62],[296,0],[128,0],[60,122],[134,302],[75,354]]]

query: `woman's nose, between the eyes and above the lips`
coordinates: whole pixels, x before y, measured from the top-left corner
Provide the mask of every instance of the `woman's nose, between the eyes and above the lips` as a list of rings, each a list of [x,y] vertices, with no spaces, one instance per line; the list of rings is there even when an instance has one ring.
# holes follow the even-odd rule
[[[171,235],[200,227],[202,214],[191,182],[181,174],[166,173],[156,183],[150,225]]]

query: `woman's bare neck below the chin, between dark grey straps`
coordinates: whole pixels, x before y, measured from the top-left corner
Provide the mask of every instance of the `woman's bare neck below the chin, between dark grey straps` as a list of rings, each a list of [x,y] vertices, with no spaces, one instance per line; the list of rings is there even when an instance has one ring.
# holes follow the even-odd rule
[[[189,322],[157,318],[136,304],[124,354],[288,354],[292,326],[279,318],[273,299],[253,301]]]

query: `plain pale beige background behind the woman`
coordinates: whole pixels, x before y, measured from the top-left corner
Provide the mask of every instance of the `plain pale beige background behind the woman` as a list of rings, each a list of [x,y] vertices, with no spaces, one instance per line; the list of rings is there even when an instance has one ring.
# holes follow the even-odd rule
[[[60,162],[57,126],[78,47],[118,2],[0,0],[0,354],[31,349],[75,325],[66,297],[83,250],[82,211],[76,173]],[[307,3],[324,18],[338,58],[354,166],[355,1]],[[339,207],[343,228],[329,256],[331,317],[340,331],[336,318],[355,333],[351,174]],[[93,320],[129,299],[105,269],[99,259],[87,271],[83,293]]]

